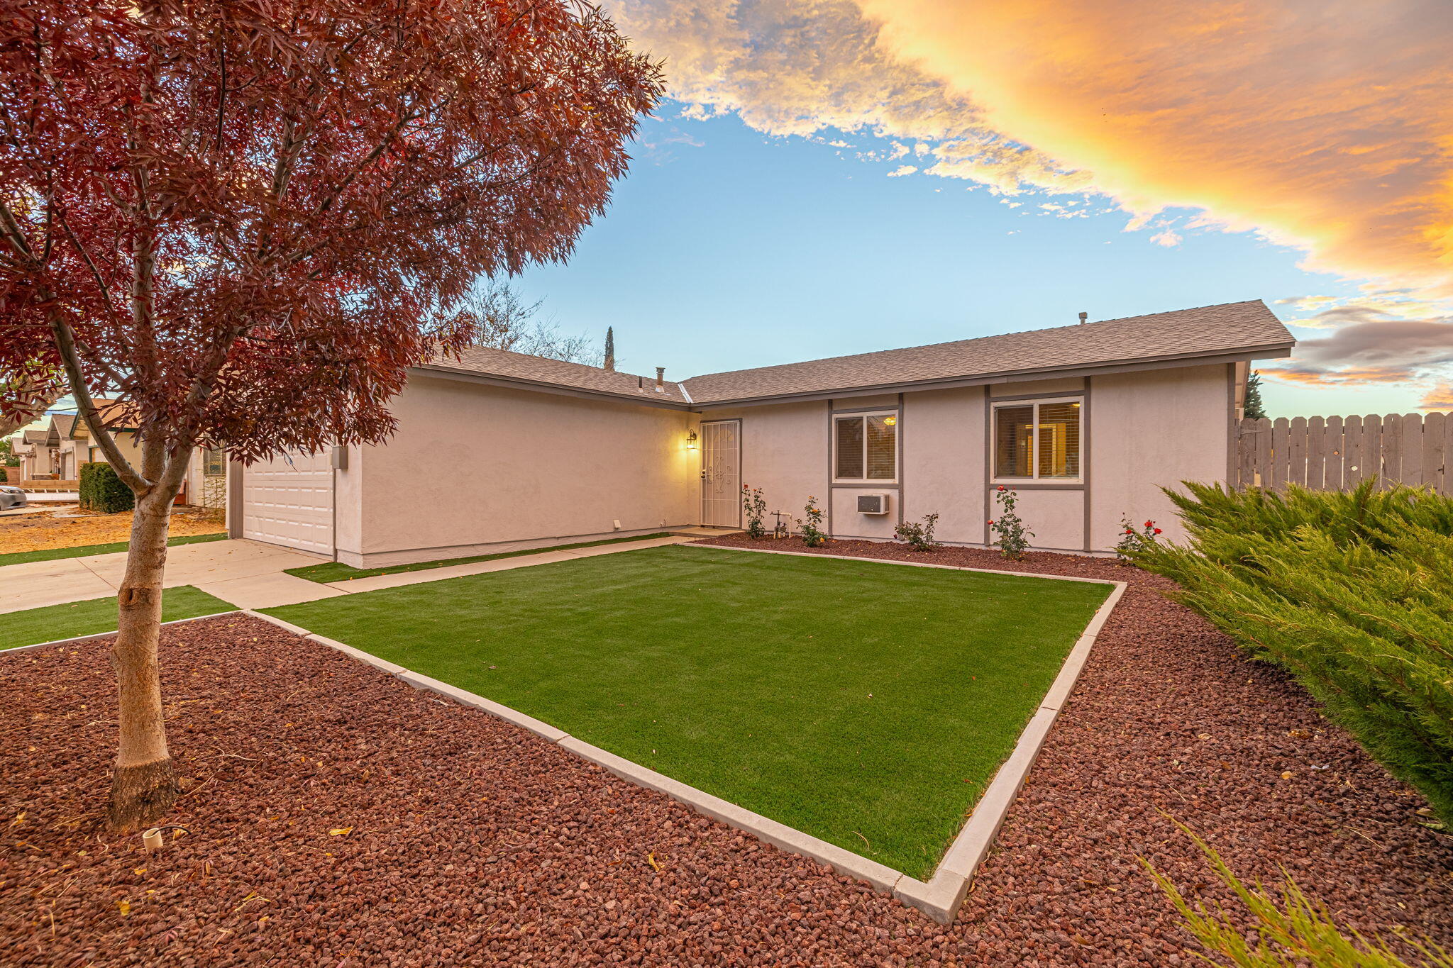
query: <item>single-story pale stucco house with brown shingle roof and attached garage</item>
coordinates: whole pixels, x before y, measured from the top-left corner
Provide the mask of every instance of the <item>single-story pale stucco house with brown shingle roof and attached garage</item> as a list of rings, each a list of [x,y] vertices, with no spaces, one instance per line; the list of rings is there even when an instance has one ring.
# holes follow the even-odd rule
[[[1100,551],[1122,515],[1177,536],[1159,488],[1228,479],[1250,364],[1292,345],[1251,300],[680,383],[474,348],[411,373],[384,446],[234,464],[228,524],[376,567],[735,528],[747,485],[835,537],[937,512],[987,544],[1003,483],[1035,547]]]

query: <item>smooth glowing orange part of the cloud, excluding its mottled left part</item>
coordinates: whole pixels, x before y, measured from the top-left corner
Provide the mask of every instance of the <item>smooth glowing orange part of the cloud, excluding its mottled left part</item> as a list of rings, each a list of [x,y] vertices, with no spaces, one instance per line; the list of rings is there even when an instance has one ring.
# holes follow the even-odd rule
[[[1136,212],[1453,293],[1453,9],[1393,0],[859,0],[879,46]]]

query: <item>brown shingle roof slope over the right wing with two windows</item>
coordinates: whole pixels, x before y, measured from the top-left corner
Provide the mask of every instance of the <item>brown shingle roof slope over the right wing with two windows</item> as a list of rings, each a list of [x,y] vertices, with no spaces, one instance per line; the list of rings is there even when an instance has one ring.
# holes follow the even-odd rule
[[[946,379],[1061,370],[1290,345],[1260,299],[1148,316],[1005,332],[907,350],[711,373],[684,380],[697,403],[822,393]]]

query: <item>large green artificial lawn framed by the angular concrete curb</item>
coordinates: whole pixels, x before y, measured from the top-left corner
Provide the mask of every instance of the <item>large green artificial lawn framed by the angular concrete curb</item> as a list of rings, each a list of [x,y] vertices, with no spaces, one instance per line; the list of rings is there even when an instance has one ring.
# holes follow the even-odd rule
[[[667,546],[267,612],[927,879],[1109,592]]]

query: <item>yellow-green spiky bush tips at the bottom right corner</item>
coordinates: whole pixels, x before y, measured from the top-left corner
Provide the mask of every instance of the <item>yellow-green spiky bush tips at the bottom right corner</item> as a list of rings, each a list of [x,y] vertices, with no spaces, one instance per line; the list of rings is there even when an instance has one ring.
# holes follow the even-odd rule
[[[1180,826],[1180,824],[1177,824]],[[1181,827],[1186,830],[1186,827]],[[1190,833],[1190,830],[1186,830]],[[1237,968],[1414,968],[1402,961],[1380,938],[1363,938],[1357,932],[1343,932],[1332,920],[1325,904],[1309,898],[1296,881],[1284,871],[1277,894],[1261,884],[1248,887],[1226,862],[1221,859],[1205,840],[1190,833],[1196,846],[1215,868],[1221,882],[1231,888],[1242,906],[1244,914],[1232,919],[1219,904],[1209,908],[1205,904],[1190,906],[1175,884],[1158,872],[1144,858],[1141,864],[1161,885],[1171,904],[1186,919],[1186,927],[1210,955],[1202,955],[1210,965],[1235,965]],[[1251,930],[1241,927],[1250,920]],[[1453,968],[1447,952],[1428,940],[1420,940],[1398,932],[1398,939],[1420,955],[1418,965],[1424,968]]]

